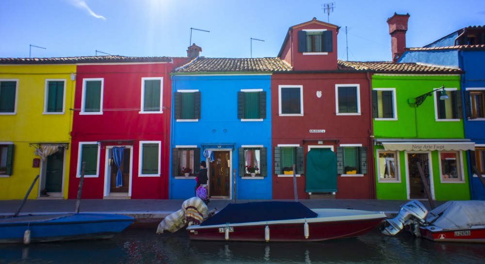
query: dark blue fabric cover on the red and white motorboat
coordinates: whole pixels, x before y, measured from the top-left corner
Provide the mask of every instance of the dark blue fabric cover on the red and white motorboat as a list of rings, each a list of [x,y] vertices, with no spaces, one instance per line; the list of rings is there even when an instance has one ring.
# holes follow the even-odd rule
[[[229,203],[219,213],[200,224],[201,226],[226,223],[248,223],[317,217],[317,213],[301,202],[247,202]]]

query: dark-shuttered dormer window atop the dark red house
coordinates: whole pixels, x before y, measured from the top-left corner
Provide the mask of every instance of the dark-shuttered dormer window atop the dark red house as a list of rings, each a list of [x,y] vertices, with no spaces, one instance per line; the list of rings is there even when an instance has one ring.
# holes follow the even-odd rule
[[[298,31],[298,52],[303,52],[304,55],[325,55],[332,51],[332,31]]]

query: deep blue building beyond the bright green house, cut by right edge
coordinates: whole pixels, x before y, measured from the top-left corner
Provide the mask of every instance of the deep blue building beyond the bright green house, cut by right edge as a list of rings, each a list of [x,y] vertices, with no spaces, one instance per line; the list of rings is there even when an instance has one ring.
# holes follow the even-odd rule
[[[399,51],[398,51],[399,52]],[[455,31],[418,48],[405,48],[397,62],[421,62],[460,68],[461,94],[452,100],[462,104],[465,138],[475,142],[475,151],[467,155],[470,170],[470,193],[473,200],[485,200],[485,186],[478,174],[485,176],[485,27],[473,26]],[[470,167],[472,168],[472,167]]]

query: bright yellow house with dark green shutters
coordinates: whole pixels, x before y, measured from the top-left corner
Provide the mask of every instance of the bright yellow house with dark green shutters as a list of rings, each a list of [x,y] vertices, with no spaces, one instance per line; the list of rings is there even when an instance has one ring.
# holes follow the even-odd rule
[[[65,64],[68,63],[68,64]],[[76,65],[0,59],[0,200],[67,199]]]

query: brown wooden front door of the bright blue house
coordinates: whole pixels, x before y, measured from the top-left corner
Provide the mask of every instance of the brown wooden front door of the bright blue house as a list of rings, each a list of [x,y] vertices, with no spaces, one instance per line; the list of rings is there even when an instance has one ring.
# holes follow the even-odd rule
[[[229,196],[230,155],[228,151],[214,151],[209,165],[210,196]]]

